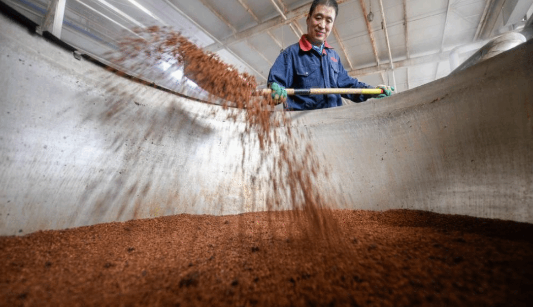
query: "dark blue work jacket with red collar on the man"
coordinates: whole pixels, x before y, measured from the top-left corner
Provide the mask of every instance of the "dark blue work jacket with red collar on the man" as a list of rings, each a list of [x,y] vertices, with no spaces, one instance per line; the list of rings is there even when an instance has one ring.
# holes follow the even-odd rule
[[[348,76],[341,59],[327,42],[322,54],[313,49],[304,34],[300,42],[281,52],[268,76],[268,83],[278,83],[285,88],[373,88]],[[368,96],[342,95],[354,102],[362,102]],[[287,97],[290,110],[313,110],[342,106],[341,95],[293,95]]]

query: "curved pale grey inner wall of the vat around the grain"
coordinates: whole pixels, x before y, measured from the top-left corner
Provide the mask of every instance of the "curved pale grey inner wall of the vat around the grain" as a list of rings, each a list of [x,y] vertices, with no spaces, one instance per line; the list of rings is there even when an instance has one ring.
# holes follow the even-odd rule
[[[329,173],[316,189],[341,208],[533,222],[531,54],[529,42],[391,98],[292,112]],[[265,209],[243,112],[120,78],[5,17],[0,71],[0,235]]]

